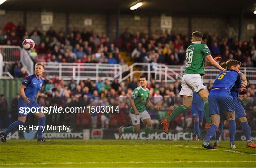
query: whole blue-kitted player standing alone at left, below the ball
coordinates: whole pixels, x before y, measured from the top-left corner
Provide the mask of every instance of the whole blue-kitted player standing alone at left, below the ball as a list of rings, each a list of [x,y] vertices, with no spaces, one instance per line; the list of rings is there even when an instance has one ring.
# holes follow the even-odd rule
[[[20,98],[18,100],[18,120],[10,124],[10,126],[3,132],[0,133],[0,138],[2,142],[6,142],[6,136],[8,133],[17,129],[19,125],[23,125],[26,121],[27,115],[29,113],[24,113],[26,107],[27,109],[37,109],[38,111],[34,115],[38,118],[38,142],[44,142],[43,137],[43,128],[45,128],[46,117],[44,113],[41,112],[40,106],[37,104],[37,98],[39,91],[41,90],[44,80],[41,78],[44,72],[44,65],[41,63],[36,64],[35,73],[27,76],[23,80],[22,84],[19,87]],[[32,110],[31,110],[32,111]]]

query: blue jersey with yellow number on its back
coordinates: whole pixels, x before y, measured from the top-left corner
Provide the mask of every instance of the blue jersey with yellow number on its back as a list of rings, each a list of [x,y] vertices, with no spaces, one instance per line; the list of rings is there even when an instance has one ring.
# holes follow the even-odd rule
[[[227,88],[229,91],[235,86],[236,88],[241,87],[241,76],[235,70],[222,71],[217,75],[212,89],[213,88]]]

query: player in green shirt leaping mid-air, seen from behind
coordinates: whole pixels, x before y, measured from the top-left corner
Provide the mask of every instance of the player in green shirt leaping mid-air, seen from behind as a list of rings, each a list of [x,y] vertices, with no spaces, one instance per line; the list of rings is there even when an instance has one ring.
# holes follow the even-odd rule
[[[167,116],[167,118],[161,120],[165,133],[169,133],[169,122],[184,111],[188,110],[193,101],[193,92],[196,92],[204,101],[204,111],[207,124],[205,128],[210,127],[210,117],[208,108],[208,95],[209,92],[203,84],[201,76],[204,75],[204,65],[211,64],[215,68],[224,71],[218,62],[221,58],[212,58],[210,50],[206,44],[201,44],[203,35],[201,32],[193,32],[191,37],[192,44],[186,50],[186,70],[182,77],[182,88],[180,95],[183,95],[183,105],[177,106],[174,111]],[[209,62],[204,62],[206,58]]]

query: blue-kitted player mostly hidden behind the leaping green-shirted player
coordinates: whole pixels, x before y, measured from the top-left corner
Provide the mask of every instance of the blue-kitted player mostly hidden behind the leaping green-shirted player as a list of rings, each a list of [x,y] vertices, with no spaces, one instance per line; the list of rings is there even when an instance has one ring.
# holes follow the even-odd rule
[[[202,127],[203,117],[204,117],[204,103],[202,98],[194,92],[193,94],[193,103],[191,106],[191,113],[194,119],[194,130],[193,140],[201,140],[200,130]]]

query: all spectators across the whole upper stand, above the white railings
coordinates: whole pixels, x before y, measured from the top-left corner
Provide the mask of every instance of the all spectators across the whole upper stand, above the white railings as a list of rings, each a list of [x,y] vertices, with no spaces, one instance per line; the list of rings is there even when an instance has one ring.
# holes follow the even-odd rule
[[[236,59],[244,67],[256,67],[256,34],[248,41],[236,41],[235,31],[227,24],[225,37],[205,32],[203,42],[207,44],[213,57],[220,56],[222,61]],[[58,32],[50,27],[41,31],[38,27],[27,32],[22,23],[16,26],[8,20],[0,29],[0,45],[21,45],[26,38],[35,42],[35,48],[29,51],[34,62],[74,62],[74,63],[111,63],[127,67],[119,53],[119,48],[127,51],[134,62],[164,63],[167,65],[185,65],[186,48],[191,44],[190,37],[182,33],[156,30],[152,35],[147,31],[136,33],[127,28],[121,35],[118,46],[110,41],[106,33],[98,35],[94,30],[80,30],[74,27],[67,33],[61,28]],[[119,48],[118,48],[119,47]],[[14,77],[26,76],[19,62],[5,64],[4,71]],[[153,68],[153,66],[152,66]]]

